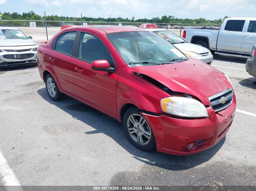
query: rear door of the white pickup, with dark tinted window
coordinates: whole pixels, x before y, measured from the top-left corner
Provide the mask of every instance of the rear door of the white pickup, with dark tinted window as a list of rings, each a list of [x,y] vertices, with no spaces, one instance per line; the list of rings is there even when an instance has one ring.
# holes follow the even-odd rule
[[[228,20],[218,34],[217,50],[240,52],[245,30],[244,20]]]

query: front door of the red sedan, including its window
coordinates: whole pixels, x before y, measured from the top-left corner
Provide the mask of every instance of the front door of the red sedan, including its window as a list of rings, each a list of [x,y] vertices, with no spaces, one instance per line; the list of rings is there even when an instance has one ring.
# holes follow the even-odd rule
[[[118,68],[109,49],[99,36],[91,32],[81,32],[77,42],[72,68],[76,95],[99,110],[116,115]],[[116,69],[115,73],[91,69],[91,62],[103,59]]]

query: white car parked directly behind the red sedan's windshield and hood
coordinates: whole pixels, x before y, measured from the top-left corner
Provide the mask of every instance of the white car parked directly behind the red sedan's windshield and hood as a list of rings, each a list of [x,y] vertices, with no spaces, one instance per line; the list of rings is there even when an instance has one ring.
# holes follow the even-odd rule
[[[149,30],[160,37],[164,38],[168,42],[172,43],[176,48],[183,52],[186,56],[201,60],[209,65],[213,60],[213,56],[207,48],[198,46],[192,43],[188,43],[179,37],[177,34],[172,33],[169,30],[163,29],[146,29]]]

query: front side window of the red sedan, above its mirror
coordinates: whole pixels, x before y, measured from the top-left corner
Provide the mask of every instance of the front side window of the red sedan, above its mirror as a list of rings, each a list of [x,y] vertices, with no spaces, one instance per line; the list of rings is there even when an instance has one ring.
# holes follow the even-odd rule
[[[107,60],[110,65],[113,64],[113,59],[101,40],[88,33],[81,33],[78,44],[78,58],[88,62]]]

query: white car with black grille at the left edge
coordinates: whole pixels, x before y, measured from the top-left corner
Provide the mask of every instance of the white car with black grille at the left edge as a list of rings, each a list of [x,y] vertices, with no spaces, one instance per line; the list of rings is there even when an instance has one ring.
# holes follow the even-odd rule
[[[34,65],[38,45],[21,30],[0,27],[0,68]]]

